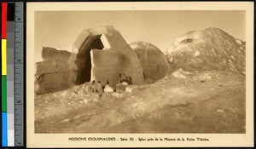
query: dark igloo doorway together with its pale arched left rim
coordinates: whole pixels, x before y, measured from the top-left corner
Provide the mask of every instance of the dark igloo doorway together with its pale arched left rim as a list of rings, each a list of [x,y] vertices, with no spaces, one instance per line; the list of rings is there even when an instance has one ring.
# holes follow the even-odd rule
[[[91,76],[91,49],[103,49],[102,34],[108,33],[113,26],[98,26],[84,29],[73,43],[73,51],[70,56],[70,86],[90,82]],[[107,45],[108,46],[108,45]]]

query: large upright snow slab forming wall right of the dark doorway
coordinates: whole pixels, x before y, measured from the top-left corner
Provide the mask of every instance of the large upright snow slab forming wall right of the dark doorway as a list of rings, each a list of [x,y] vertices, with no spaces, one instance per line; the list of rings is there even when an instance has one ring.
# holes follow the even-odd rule
[[[121,82],[142,84],[143,69],[137,55],[134,56],[132,52],[91,50],[91,80],[101,81],[103,85],[109,83],[112,86]]]

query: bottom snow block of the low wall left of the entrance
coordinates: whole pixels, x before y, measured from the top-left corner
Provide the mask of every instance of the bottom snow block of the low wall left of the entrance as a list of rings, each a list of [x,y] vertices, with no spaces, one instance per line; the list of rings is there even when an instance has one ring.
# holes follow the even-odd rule
[[[35,93],[45,94],[53,91],[68,88],[69,73],[43,74],[40,77],[35,76]]]

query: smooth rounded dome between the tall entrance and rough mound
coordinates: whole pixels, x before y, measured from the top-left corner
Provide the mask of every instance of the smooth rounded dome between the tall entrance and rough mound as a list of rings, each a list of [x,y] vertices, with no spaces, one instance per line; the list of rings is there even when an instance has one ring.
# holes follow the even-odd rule
[[[169,71],[169,64],[163,52],[151,43],[132,42],[131,48],[142,63],[145,79],[159,80]]]

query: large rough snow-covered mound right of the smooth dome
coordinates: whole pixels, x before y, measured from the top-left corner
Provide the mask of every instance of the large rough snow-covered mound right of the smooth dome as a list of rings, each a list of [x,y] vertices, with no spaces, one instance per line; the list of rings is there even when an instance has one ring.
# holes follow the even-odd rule
[[[166,50],[171,72],[218,70],[245,75],[246,43],[215,27],[178,37]]]

